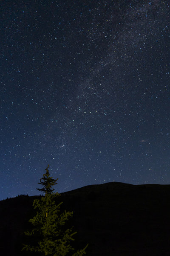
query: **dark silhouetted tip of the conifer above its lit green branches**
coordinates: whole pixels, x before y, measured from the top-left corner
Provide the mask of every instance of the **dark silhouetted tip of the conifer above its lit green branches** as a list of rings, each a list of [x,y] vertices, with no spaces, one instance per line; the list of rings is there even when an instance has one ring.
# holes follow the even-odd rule
[[[48,164],[49,167],[49,164]],[[48,167],[45,169],[46,173],[43,174],[43,178],[40,179],[40,182],[38,184],[43,185],[44,187],[42,189],[37,189],[39,191],[42,191],[45,193],[45,195],[51,195],[54,191],[54,189],[51,189],[51,186],[54,186],[57,184],[57,180],[53,179],[53,177],[49,177],[49,171]],[[42,181],[43,180],[43,181]]]

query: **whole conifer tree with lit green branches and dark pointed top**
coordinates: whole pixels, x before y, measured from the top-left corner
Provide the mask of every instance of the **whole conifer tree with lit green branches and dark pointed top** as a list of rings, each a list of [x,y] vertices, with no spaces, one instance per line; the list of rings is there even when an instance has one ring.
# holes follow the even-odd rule
[[[38,252],[43,256],[65,256],[74,250],[70,242],[74,240],[73,236],[77,232],[73,232],[73,227],[68,229],[64,226],[69,217],[73,216],[73,212],[66,212],[65,210],[60,213],[62,202],[56,204],[60,194],[58,192],[53,193],[54,189],[51,189],[51,186],[57,184],[58,179],[55,180],[49,176],[48,167],[45,169],[46,173],[39,183],[44,187],[38,189],[44,192],[45,196],[34,200],[33,207],[37,209],[37,214],[29,220],[34,228],[25,232],[27,236],[32,238],[33,243],[24,244],[22,250]],[[87,246],[88,244],[84,249],[72,254],[72,256],[86,254],[85,249]]]

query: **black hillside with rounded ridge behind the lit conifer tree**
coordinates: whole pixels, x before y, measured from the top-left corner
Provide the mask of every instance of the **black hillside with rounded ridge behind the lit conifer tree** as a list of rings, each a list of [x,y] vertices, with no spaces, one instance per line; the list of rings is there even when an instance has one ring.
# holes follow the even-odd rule
[[[0,255],[20,256],[36,197],[0,201]],[[111,182],[61,194],[87,256],[170,256],[170,185]]]

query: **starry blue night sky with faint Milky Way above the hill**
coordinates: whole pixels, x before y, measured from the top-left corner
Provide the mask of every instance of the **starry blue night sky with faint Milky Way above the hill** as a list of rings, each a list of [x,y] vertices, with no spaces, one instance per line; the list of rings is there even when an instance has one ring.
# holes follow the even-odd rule
[[[0,1],[0,200],[170,183],[170,1]]]

